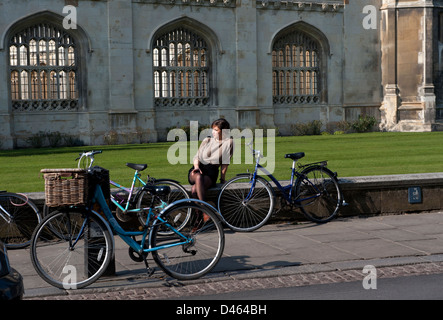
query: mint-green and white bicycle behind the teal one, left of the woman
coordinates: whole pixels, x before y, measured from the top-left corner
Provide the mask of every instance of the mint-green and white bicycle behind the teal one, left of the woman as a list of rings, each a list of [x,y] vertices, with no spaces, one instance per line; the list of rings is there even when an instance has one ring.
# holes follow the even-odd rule
[[[101,150],[92,150],[80,153],[79,157],[75,159],[76,161],[78,161],[78,168],[91,168],[95,161],[94,155],[100,153],[102,153]],[[152,201],[150,193],[144,189],[146,185],[170,187],[171,192],[161,197],[162,200],[166,203],[172,203],[180,199],[189,199],[189,195],[186,192],[186,189],[178,181],[171,179],[155,179],[149,176],[146,182],[143,181],[141,179],[140,172],[147,168],[147,164],[126,163],[126,166],[135,170],[130,188],[126,188],[115,181],[109,181],[112,187],[117,188],[116,190],[111,191],[111,201],[116,207],[116,216],[120,221],[128,222],[132,218],[131,213],[136,213],[140,225],[143,226],[145,224],[147,219],[146,211],[140,209],[147,205],[150,205]],[[142,185],[142,187],[139,188],[138,191],[135,189],[135,184],[137,182]],[[160,205],[160,203],[158,202],[156,204]],[[180,226],[186,225],[189,220],[190,214],[191,212],[189,211],[187,214],[181,214],[175,217],[177,229],[180,230]]]

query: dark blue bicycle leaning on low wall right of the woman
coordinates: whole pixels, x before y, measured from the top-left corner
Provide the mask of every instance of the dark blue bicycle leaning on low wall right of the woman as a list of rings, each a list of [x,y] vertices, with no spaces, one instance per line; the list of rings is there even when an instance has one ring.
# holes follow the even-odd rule
[[[327,161],[305,165],[298,163],[304,152],[289,153],[292,160],[291,180],[286,186],[260,165],[262,154],[248,144],[255,156],[253,173],[238,174],[227,181],[218,195],[218,210],[222,220],[234,231],[254,231],[271,217],[275,193],[268,180],[258,175],[260,169],[281,192],[282,206],[300,208],[305,217],[317,223],[332,220],[342,205],[346,205],[337,174],[329,170]],[[297,164],[297,168],[296,168]]]

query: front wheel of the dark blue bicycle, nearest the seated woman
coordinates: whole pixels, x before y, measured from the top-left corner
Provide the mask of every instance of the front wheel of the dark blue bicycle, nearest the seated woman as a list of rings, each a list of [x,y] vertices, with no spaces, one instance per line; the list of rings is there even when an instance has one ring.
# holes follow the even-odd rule
[[[234,231],[249,232],[262,227],[274,210],[274,193],[268,182],[257,177],[251,192],[249,175],[226,182],[218,196],[218,210],[226,225]]]

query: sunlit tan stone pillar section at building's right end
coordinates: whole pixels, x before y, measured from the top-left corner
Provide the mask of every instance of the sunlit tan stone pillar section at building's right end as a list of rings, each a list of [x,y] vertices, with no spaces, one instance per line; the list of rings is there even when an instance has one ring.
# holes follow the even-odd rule
[[[384,0],[382,128],[441,130],[441,1]],[[388,45],[392,44],[392,45]]]

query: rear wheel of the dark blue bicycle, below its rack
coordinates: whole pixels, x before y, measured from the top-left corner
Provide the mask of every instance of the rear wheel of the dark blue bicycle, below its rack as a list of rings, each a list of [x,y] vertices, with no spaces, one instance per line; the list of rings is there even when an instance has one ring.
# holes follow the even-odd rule
[[[341,204],[336,176],[328,168],[312,166],[302,171],[295,184],[295,203],[305,217],[314,222],[334,218]]]

